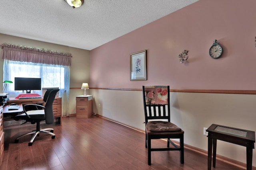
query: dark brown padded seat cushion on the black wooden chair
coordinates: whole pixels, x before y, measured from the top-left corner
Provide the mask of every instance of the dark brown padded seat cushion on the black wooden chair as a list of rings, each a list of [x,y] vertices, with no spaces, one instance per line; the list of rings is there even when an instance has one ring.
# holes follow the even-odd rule
[[[177,132],[181,131],[180,127],[168,121],[149,121],[146,128],[152,132]]]

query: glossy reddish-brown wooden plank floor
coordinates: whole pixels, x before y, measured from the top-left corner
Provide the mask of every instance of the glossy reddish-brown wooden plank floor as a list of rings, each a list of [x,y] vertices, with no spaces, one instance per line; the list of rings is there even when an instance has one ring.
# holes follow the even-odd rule
[[[144,133],[105,120],[63,117],[53,127],[51,139],[41,134],[29,147],[30,136],[14,143],[15,137],[35,128],[24,124],[4,127],[4,159],[0,170],[206,170],[207,156],[185,149],[185,163],[180,164],[179,151],[152,152],[152,165],[147,164]],[[166,145],[154,140],[152,147]],[[216,161],[213,170],[242,170]]]

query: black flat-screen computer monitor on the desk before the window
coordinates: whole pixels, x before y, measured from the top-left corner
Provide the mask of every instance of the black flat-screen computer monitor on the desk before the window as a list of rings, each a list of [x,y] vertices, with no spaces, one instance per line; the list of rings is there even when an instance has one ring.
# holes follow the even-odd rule
[[[14,90],[26,90],[26,93],[31,93],[31,90],[41,90],[41,78],[14,78]]]

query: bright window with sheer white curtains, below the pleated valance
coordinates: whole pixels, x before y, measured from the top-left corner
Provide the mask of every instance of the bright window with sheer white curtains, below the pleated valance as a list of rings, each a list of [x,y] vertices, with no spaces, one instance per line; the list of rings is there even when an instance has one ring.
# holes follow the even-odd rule
[[[4,60],[4,80],[14,82],[15,77],[41,78],[42,88],[60,88],[59,96],[62,97],[63,115],[68,112],[68,96],[70,82],[70,66],[40,64],[20,61]],[[22,91],[14,90],[14,83],[8,84],[5,92],[10,97],[16,97]],[[32,91],[33,92],[33,91]],[[42,95],[41,90],[34,90],[34,93]]]

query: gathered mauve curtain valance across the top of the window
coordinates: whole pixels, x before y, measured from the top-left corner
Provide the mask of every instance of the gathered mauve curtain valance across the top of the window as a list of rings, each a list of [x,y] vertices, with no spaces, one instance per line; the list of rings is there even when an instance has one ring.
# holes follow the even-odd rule
[[[71,65],[72,54],[3,43],[2,59],[54,65]]]

